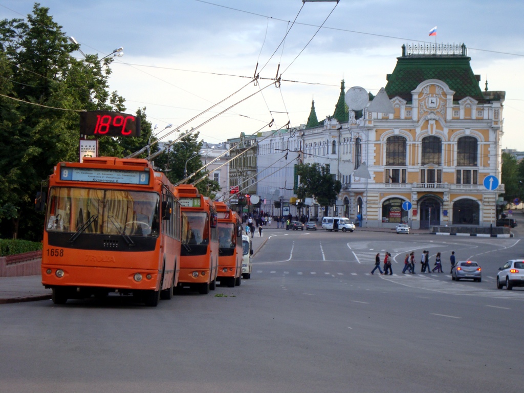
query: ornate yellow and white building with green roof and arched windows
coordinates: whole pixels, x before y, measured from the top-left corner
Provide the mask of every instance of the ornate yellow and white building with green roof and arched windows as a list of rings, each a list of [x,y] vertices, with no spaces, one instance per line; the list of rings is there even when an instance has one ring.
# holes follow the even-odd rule
[[[394,113],[348,110],[344,82],[333,116],[318,122],[312,106],[303,160],[341,180],[330,214],[369,227],[495,222],[504,185],[484,180],[500,180],[505,92],[481,90],[470,60],[464,45],[402,46],[385,86]]]

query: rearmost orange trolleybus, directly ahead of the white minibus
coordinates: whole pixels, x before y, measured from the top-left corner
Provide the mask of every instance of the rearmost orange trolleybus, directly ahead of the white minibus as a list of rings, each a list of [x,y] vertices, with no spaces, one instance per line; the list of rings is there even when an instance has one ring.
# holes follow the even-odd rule
[[[215,202],[219,217],[219,272],[216,280],[221,285],[241,284],[242,276],[242,221],[224,202]]]

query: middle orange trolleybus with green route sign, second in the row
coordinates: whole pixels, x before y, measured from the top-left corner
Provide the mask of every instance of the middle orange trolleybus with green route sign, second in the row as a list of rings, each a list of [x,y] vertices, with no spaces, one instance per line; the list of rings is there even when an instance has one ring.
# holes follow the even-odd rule
[[[175,188],[180,201],[182,238],[179,287],[209,293],[216,287],[219,264],[219,235],[213,201],[190,184]]]

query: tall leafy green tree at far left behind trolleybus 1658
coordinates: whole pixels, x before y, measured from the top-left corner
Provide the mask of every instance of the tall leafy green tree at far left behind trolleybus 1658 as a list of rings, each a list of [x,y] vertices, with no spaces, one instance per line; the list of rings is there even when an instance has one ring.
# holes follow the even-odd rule
[[[78,112],[124,108],[108,92],[111,59],[73,58],[78,45],[48,12],[36,3],[27,21],[0,21],[0,230],[28,239],[41,238],[43,214],[32,207],[42,181],[57,162],[78,160]],[[101,151],[122,150],[114,145],[100,141]]]

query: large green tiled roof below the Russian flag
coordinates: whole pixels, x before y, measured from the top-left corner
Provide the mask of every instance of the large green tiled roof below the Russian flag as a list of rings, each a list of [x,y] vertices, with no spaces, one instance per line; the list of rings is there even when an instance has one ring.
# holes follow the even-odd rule
[[[455,92],[454,101],[472,97],[484,101],[478,79],[467,56],[409,56],[397,58],[397,65],[387,77],[385,90],[389,98],[399,96],[412,100],[411,91],[421,82],[438,79],[445,82]]]

